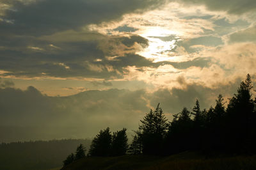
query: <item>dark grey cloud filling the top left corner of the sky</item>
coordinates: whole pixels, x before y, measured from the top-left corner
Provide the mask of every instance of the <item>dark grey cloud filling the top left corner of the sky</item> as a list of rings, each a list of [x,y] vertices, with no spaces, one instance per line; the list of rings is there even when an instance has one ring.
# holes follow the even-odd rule
[[[6,1],[5,1],[6,2]],[[125,13],[156,8],[157,0],[38,0],[24,4],[9,1],[0,31],[17,35],[47,35],[87,24],[120,19]]]

